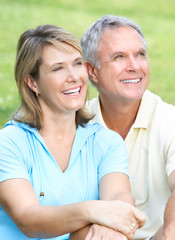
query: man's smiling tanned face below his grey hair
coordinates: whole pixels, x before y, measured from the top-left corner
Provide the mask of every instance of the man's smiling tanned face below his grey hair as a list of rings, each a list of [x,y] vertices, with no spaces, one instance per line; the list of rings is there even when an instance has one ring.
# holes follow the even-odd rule
[[[137,101],[149,84],[147,50],[131,27],[105,29],[97,51],[96,86],[108,100]]]

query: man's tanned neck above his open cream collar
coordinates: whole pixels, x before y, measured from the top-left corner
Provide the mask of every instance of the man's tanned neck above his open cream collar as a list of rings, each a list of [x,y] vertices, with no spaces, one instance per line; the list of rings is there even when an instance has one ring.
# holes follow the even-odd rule
[[[100,101],[101,113],[106,126],[126,138],[131,126],[135,122],[140,100],[132,104],[109,104]]]

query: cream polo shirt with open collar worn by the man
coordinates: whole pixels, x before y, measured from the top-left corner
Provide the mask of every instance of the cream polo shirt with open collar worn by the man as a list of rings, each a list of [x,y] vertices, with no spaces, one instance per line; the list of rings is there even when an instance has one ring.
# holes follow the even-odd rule
[[[87,107],[95,114],[91,122],[103,121],[99,97]],[[136,207],[146,215],[144,227],[134,239],[152,236],[163,223],[170,196],[168,176],[175,170],[175,107],[146,90],[125,143],[129,154],[129,177]]]

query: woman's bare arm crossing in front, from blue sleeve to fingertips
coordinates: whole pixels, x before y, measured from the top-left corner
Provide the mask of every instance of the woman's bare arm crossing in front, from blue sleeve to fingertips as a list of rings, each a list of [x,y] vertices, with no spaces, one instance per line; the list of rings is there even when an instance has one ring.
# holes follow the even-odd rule
[[[134,207],[121,201],[41,206],[30,182],[24,179],[0,183],[0,204],[26,236],[38,238],[63,235],[96,223],[123,232],[131,239],[129,219],[143,218]]]

